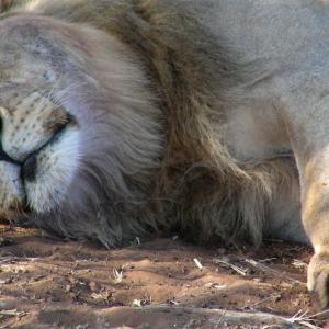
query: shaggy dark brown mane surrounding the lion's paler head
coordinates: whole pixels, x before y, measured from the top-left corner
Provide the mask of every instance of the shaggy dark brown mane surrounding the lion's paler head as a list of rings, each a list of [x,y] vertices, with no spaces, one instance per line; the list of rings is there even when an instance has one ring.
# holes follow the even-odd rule
[[[137,55],[160,109],[157,124],[164,136],[158,158],[145,159],[147,174],[125,172],[127,163],[113,168],[138,161],[134,157],[94,163],[86,179],[91,194],[87,209],[64,207],[29,223],[64,236],[95,238],[107,247],[159,229],[177,230],[202,243],[260,243],[269,232],[265,219],[272,203],[298,186],[294,160],[239,162],[224,144],[220,126],[225,109],[243,102],[240,90],[266,72],[254,70],[252,63],[239,63],[225,35],[223,46],[212,42],[193,13],[175,1],[71,1],[68,7],[61,1],[25,2],[8,15],[34,12],[35,7],[36,13],[110,33]],[[8,9],[10,1],[3,4]],[[116,175],[117,190],[101,185],[105,175]]]

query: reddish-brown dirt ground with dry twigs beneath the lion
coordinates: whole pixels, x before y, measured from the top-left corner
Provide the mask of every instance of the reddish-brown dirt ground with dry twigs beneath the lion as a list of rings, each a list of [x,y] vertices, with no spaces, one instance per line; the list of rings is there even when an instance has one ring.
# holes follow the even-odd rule
[[[0,329],[326,328],[304,246],[205,249],[172,237],[104,250],[0,231]]]

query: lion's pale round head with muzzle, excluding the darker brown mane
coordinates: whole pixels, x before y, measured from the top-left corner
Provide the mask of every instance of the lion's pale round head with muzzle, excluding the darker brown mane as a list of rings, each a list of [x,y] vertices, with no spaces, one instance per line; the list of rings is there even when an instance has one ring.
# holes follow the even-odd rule
[[[2,217],[122,239],[115,213],[144,198],[162,143],[136,63],[100,30],[33,14],[0,20]]]

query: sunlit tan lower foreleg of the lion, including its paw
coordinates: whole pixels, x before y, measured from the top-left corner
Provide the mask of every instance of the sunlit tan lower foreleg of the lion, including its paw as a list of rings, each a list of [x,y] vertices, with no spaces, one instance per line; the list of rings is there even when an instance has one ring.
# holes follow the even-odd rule
[[[315,254],[308,266],[307,287],[321,308],[329,306],[329,148],[318,149],[300,177],[303,224]]]

